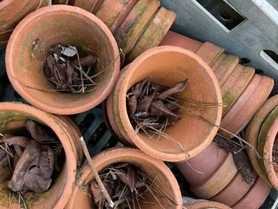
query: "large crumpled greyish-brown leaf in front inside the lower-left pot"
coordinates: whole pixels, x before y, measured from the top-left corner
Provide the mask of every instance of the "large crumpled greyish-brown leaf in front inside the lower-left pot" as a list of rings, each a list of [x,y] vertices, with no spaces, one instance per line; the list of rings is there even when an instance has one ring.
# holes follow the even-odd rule
[[[7,187],[14,192],[42,193],[49,189],[54,169],[54,153],[49,146],[40,146],[30,140],[15,166],[12,179]]]

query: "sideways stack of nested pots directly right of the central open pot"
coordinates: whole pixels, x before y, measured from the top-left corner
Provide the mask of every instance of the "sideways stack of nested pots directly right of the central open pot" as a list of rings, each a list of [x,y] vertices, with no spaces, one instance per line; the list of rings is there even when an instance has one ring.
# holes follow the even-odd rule
[[[222,47],[211,42],[202,43],[168,31],[160,45],[175,45],[195,52],[211,67],[218,79],[223,100],[222,129],[219,132],[228,139],[250,123],[274,86],[272,78],[256,74],[254,68],[240,65],[237,56],[224,54]]]

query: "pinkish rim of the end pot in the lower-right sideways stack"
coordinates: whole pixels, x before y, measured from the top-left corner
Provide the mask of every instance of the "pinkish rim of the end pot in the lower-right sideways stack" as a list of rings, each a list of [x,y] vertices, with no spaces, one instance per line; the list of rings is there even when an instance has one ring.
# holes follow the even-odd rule
[[[263,182],[261,178],[256,178],[254,185],[249,189],[249,191],[243,196],[240,201],[238,201],[233,209],[250,209],[259,208],[265,199],[268,197],[270,192],[270,187]]]

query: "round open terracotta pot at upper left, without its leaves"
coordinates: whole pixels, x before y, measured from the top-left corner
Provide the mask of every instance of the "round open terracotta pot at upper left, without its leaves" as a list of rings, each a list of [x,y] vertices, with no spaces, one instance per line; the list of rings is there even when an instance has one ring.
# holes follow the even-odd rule
[[[95,91],[90,91],[95,86],[85,94],[51,91],[54,88],[42,66],[56,43],[85,46],[95,52],[107,68],[96,77]],[[33,106],[55,114],[77,114],[97,106],[111,92],[120,71],[120,56],[111,31],[95,15],[56,5],[40,8],[20,22],[8,42],[6,68],[15,90]],[[96,65],[95,72],[101,70]]]

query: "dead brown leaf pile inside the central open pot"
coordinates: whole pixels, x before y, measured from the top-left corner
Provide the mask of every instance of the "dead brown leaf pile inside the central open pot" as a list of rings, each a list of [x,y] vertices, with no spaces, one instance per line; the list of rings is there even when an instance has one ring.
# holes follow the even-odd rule
[[[126,93],[128,112],[133,125],[161,129],[181,119],[181,114],[177,114],[181,107],[176,93],[184,90],[187,79],[172,88],[151,83],[150,79],[136,83]]]

